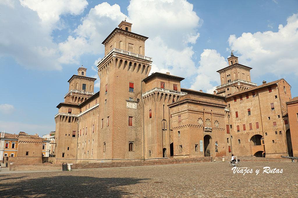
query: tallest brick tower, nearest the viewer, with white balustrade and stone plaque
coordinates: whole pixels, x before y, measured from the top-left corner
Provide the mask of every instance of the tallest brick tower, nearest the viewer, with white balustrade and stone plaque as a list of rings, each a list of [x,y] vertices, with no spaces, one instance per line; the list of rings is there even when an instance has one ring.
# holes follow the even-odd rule
[[[99,148],[102,159],[143,158],[142,80],[148,76],[152,58],[145,56],[148,37],[131,32],[131,23],[122,21],[102,42],[105,56],[98,62],[100,77]],[[99,123],[101,126],[102,123]]]

